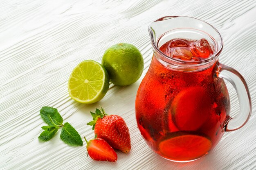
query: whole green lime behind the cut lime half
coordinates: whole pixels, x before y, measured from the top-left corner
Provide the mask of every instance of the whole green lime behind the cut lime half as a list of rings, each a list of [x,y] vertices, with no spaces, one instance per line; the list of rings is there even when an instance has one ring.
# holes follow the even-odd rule
[[[110,81],[121,86],[135,83],[144,68],[144,60],[139,50],[127,43],[119,43],[108,48],[101,63],[106,68]]]

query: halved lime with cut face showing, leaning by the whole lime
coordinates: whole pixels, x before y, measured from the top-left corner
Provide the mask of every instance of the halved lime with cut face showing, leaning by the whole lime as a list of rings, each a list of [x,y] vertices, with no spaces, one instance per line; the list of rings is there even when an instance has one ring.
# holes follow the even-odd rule
[[[107,93],[108,87],[108,72],[100,63],[93,60],[79,63],[68,80],[70,97],[85,104],[101,100]]]

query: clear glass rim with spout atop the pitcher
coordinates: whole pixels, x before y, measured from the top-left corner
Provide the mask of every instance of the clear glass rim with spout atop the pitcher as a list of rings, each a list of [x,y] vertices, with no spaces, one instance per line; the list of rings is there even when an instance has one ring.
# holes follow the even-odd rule
[[[223,48],[223,39],[222,39],[222,36],[220,35],[220,33],[219,33],[219,31],[215,28],[215,27],[213,27],[211,24],[209,24],[209,23],[207,23],[207,22],[205,22],[205,21],[203,21],[203,20],[200,20],[200,19],[197,19],[197,18],[195,18],[195,17],[188,17],[188,16],[182,16],[182,15],[180,15],[180,16],[165,16],[165,17],[161,17],[161,18],[159,18],[159,19],[157,19],[157,20],[155,20],[154,22],[158,22],[158,21],[163,21],[163,20],[170,20],[170,19],[173,19],[173,18],[176,18],[176,17],[186,17],[186,18],[191,18],[191,19],[194,19],[194,20],[198,20],[198,21],[200,21],[200,22],[203,22],[203,23],[205,23],[205,24],[207,24],[207,25],[209,25],[209,26],[211,26],[211,28],[213,28],[216,32],[217,32],[217,34],[218,34],[218,36],[220,37],[220,44],[221,44],[221,46],[219,47],[219,49],[217,48],[217,46],[216,46],[216,43],[215,43],[215,48],[217,48],[216,50],[214,50],[214,52],[213,52],[213,55],[209,58],[209,59],[205,59],[205,60],[201,60],[201,61],[182,61],[182,60],[178,60],[178,59],[175,59],[175,58],[171,58],[171,57],[169,57],[168,55],[166,55],[166,54],[164,54],[164,52],[162,52],[161,50],[159,50],[159,48],[157,47],[157,44],[155,44],[155,41],[154,41],[154,39],[153,39],[153,31],[152,31],[152,29],[151,29],[151,24],[148,26],[148,31],[149,31],[149,33],[150,33],[150,40],[151,40],[151,44],[153,45],[153,48],[159,53],[159,54],[161,54],[164,58],[166,58],[166,59],[168,59],[168,60],[170,60],[170,61],[174,61],[174,62],[177,62],[177,63],[181,63],[181,64],[193,64],[193,65],[204,65],[204,64],[207,64],[207,63],[209,63],[209,62],[211,62],[211,61],[214,61],[214,60],[216,60],[216,59],[218,59],[218,56],[220,55],[220,52],[222,51],[222,48]],[[153,23],[153,22],[151,22],[151,23]],[[185,27],[184,27],[185,28]],[[193,28],[194,29],[194,28]],[[171,30],[170,30],[171,31]],[[202,30],[200,30],[200,31],[202,31]],[[204,32],[204,31],[203,31]],[[209,35],[208,33],[207,33],[207,35]],[[216,40],[211,36],[211,35],[209,35],[215,42],[216,42]],[[158,40],[157,40],[158,41]]]

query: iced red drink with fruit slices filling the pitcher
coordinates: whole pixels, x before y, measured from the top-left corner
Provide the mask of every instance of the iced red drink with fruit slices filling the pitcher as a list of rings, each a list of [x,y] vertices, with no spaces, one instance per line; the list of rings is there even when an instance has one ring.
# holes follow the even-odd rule
[[[182,61],[202,61],[213,54],[206,39],[173,39],[159,50]],[[229,119],[227,87],[222,78],[214,78],[218,61],[205,70],[184,72],[159,60],[153,56],[137,92],[138,128],[148,146],[162,157],[198,159],[216,146]]]

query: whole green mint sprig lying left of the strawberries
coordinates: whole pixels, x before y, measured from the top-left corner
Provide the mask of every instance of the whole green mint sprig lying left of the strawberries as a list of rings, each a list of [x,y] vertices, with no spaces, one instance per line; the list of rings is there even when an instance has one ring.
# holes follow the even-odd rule
[[[64,143],[71,146],[83,145],[81,136],[76,131],[76,129],[74,129],[74,127],[71,126],[68,122],[65,122],[64,125],[62,124],[63,118],[61,117],[60,113],[58,113],[57,109],[48,106],[42,107],[40,110],[40,115],[44,122],[49,126],[42,126],[44,131],[40,134],[40,136],[38,136],[38,139],[46,142],[52,139],[58,129],[63,127],[60,137]]]

